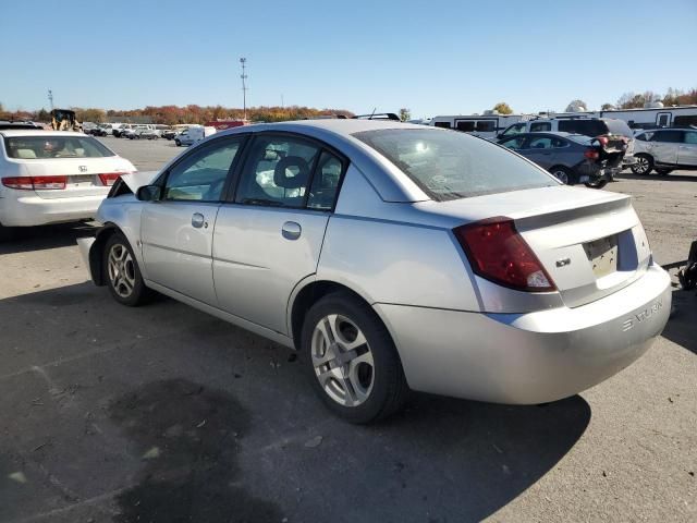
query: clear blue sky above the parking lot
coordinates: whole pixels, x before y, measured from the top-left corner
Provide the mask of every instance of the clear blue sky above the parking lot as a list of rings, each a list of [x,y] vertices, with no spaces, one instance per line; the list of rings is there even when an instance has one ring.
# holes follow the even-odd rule
[[[414,118],[697,87],[697,0],[3,0],[5,109],[309,106]],[[14,45],[13,45],[14,42]]]

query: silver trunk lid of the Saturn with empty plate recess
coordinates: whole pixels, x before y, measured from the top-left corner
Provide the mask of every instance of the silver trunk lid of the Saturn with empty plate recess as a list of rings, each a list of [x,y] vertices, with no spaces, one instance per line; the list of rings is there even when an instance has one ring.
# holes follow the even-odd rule
[[[511,218],[568,307],[628,285],[650,263],[646,233],[625,195],[555,186],[418,205],[461,224]]]

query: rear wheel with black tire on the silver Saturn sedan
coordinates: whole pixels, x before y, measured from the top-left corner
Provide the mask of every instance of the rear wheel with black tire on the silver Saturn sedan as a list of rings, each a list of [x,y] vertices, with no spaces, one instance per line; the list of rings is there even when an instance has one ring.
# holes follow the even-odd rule
[[[392,338],[352,294],[329,294],[310,307],[301,350],[313,388],[344,419],[366,424],[403,406],[408,387]]]

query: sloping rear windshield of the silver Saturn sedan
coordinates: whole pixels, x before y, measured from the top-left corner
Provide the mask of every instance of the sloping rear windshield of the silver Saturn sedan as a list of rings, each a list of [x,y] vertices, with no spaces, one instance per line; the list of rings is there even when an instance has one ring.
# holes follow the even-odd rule
[[[389,129],[354,136],[439,202],[558,184],[504,147],[455,131]]]

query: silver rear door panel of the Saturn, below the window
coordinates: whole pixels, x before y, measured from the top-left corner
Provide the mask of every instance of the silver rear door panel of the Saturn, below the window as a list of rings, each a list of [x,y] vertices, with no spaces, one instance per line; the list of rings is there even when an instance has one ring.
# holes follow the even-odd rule
[[[220,308],[286,333],[288,301],[316,272],[328,221],[329,212],[223,205],[213,242]]]

